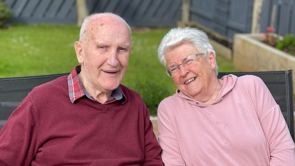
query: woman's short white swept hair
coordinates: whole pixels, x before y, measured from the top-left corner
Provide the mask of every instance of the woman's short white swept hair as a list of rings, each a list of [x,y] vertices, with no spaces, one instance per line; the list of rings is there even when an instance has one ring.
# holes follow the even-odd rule
[[[174,28],[171,29],[162,39],[161,44],[159,45],[158,49],[158,58],[166,68],[166,55],[167,53],[180,46],[181,44],[193,44],[195,48],[200,53],[208,53],[212,51],[214,53],[214,56],[216,58],[216,53],[212,47],[212,45],[209,43],[208,36],[203,31],[196,29],[196,28]],[[204,54],[203,57],[207,57],[207,54]],[[216,76],[218,75],[218,67],[217,63],[215,64],[215,73]]]

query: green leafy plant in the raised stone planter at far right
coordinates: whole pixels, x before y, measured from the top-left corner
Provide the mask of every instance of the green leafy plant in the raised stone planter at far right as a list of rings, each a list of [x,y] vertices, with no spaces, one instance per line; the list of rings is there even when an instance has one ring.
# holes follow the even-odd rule
[[[285,36],[283,40],[278,41],[276,48],[295,55],[295,36],[291,34]]]

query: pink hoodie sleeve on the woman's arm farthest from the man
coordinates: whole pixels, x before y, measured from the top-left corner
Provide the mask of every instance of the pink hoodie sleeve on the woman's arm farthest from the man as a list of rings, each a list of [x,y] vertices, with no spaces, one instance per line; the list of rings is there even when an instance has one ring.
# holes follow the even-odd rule
[[[270,150],[270,166],[295,165],[295,145],[270,91],[261,79],[255,80],[257,114]]]

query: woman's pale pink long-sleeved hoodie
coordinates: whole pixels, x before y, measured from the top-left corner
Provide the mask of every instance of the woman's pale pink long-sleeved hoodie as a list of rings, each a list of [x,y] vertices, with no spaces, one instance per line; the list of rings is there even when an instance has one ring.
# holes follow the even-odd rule
[[[295,145],[278,104],[253,75],[223,78],[208,105],[180,91],[158,108],[165,166],[295,165]]]

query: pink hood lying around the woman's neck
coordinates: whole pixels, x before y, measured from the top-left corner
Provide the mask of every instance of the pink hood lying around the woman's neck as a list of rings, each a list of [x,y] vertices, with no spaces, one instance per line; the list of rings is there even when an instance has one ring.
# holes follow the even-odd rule
[[[236,75],[224,75],[220,80],[223,80],[223,84],[222,87],[220,89],[220,95],[216,98],[215,102],[211,103],[211,104],[216,104],[218,102],[221,102],[226,96],[227,94],[232,90],[232,88],[235,86],[236,81],[237,81],[237,76]],[[176,90],[176,94],[174,94],[174,96],[181,98],[187,102],[189,102],[190,104],[193,105],[197,105],[200,107],[206,107],[209,106],[209,104],[197,101],[193,98],[190,98],[188,96],[186,96],[185,94],[183,94],[181,91],[179,91],[178,89]]]

